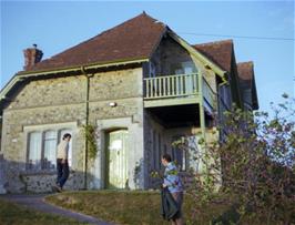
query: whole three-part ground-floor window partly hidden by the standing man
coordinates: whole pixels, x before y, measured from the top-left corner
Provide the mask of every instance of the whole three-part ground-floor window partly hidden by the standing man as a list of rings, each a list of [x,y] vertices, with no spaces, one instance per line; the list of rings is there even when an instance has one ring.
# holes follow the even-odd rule
[[[28,170],[55,170],[57,146],[69,129],[33,131],[28,136]],[[69,165],[72,165],[72,142],[69,143]]]

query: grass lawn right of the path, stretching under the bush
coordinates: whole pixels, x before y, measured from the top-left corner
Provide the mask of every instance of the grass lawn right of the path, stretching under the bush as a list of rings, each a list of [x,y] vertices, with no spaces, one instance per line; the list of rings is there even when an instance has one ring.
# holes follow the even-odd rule
[[[160,193],[148,191],[84,191],[65,192],[47,197],[47,202],[81,212],[108,222],[125,225],[165,225],[171,224],[160,215]],[[235,202],[235,204],[233,204]],[[214,202],[202,205],[195,211],[195,202],[189,194],[184,198],[184,218],[186,225],[231,225],[237,224],[238,201],[232,196],[216,195]],[[193,214],[194,212],[194,214]],[[289,214],[289,213],[288,213]],[[293,219],[292,219],[293,221]],[[212,223],[215,222],[215,223]],[[218,223],[217,223],[218,222]],[[241,225],[266,224],[265,215],[244,216]],[[272,221],[272,225],[283,225]],[[289,223],[287,223],[289,224]],[[291,222],[291,224],[293,224]],[[295,223],[294,223],[295,224]]]

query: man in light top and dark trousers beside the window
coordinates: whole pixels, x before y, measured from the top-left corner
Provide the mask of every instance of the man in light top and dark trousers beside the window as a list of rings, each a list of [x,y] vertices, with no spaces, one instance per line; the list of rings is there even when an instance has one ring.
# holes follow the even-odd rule
[[[63,135],[62,141],[58,145],[58,154],[57,154],[57,168],[58,168],[58,178],[57,184],[54,186],[55,191],[61,192],[63,185],[65,184],[70,170],[68,162],[69,154],[69,142],[71,141],[71,134],[67,133]]]

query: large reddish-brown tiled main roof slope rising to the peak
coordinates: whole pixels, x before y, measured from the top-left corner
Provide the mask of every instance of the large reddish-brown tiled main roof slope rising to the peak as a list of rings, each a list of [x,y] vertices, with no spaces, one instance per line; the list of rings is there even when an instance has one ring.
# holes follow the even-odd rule
[[[143,12],[26,72],[150,58],[165,30],[165,24]]]

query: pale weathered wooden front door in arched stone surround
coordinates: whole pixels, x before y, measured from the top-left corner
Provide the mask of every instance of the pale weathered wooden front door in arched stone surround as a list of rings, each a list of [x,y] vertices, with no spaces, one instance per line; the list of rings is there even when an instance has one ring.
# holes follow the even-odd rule
[[[129,132],[118,130],[108,135],[108,188],[125,188],[128,185]]]

